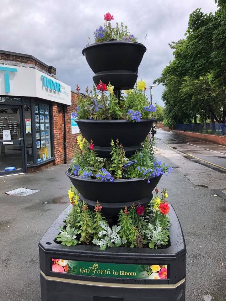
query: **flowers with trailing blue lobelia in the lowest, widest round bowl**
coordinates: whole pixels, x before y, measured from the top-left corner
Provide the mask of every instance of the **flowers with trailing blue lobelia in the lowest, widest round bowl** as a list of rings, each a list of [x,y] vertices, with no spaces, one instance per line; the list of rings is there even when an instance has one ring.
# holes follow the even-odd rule
[[[78,136],[79,145],[83,140]],[[97,157],[93,143],[83,142],[83,148],[75,148],[75,156],[71,167],[71,174],[82,178],[94,178],[103,182],[114,182],[120,178],[139,178],[144,177],[150,183],[150,178],[168,174],[172,168],[157,160],[153,154],[153,144],[148,140],[143,141],[143,149],[137,151],[135,155],[126,158],[123,145],[119,140],[111,140],[111,159]],[[86,147],[84,147],[86,145]],[[90,147],[92,145],[92,147]],[[167,210],[167,208],[162,208]]]

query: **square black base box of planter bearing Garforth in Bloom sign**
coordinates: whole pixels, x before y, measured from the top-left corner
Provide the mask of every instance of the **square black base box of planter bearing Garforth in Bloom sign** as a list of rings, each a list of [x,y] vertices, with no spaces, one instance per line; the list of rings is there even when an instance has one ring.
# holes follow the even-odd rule
[[[55,237],[66,216],[63,212],[39,242],[42,301],[185,301],[186,246],[171,205],[165,249],[62,246]],[[164,279],[145,272],[151,265],[167,269]]]

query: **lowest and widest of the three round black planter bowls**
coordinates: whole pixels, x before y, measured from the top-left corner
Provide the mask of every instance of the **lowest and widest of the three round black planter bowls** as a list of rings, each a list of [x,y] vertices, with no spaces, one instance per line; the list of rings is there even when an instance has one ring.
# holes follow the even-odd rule
[[[152,177],[148,183],[145,178],[121,179],[114,182],[102,182],[96,179],[87,179],[70,174],[70,168],[66,171],[74,187],[80,193],[80,199],[84,200],[92,209],[96,201],[103,206],[102,212],[108,216],[114,216],[125,206],[132,203],[147,206],[152,199],[152,191],[159,183],[161,176]]]

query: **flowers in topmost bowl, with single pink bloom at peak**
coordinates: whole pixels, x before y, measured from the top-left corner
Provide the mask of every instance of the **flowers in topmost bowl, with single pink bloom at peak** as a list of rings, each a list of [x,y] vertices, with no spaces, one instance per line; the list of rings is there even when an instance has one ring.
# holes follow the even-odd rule
[[[120,26],[118,22],[116,22],[116,27],[111,26],[110,21],[114,20],[113,17],[114,16],[110,13],[106,13],[104,15],[104,26],[98,26],[98,28],[94,31],[95,43],[111,40],[137,42],[137,38],[133,34],[130,34],[128,27],[122,22]],[[91,44],[90,38],[88,38],[88,40],[87,45]]]

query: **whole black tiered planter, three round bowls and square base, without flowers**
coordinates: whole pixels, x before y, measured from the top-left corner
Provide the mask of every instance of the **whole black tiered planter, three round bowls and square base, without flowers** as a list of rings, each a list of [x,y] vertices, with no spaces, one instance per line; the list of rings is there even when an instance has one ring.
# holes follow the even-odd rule
[[[120,89],[133,88],[145,51],[140,43],[110,41],[85,47],[83,55],[95,73],[94,83],[110,81],[118,90],[116,97],[119,98]],[[93,140],[98,155],[109,158],[111,138],[119,139],[126,156],[132,156],[141,148],[140,143],[153,121],[77,120],[77,123],[83,136]],[[101,182],[73,176],[70,169],[66,174],[80,193],[80,199],[90,208],[94,208],[98,200],[103,206],[102,212],[108,216],[117,215],[120,209],[132,203],[146,206],[161,178],[150,178],[150,183],[144,178]],[[56,243],[55,237],[65,217],[62,213],[39,243],[42,301],[185,301],[186,246],[172,207],[170,240],[162,249],[107,247],[100,251],[92,245],[62,246]],[[52,259],[73,261],[75,271],[73,274],[53,272]],[[146,276],[138,273],[144,265],[167,265],[167,279],[150,279],[147,273]]]

